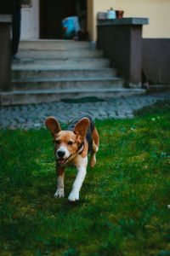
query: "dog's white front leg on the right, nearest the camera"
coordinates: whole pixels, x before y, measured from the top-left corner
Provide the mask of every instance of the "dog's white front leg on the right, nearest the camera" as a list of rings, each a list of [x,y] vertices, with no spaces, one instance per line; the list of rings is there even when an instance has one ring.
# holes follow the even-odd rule
[[[82,188],[82,183],[84,181],[84,178],[86,177],[88,157],[82,158],[82,156],[79,156],[76,166],[77,166],[77,177],[72,185],[71,194],[68,197],[69,201],[79,200],[79,192],[80,192],[80,189]]]

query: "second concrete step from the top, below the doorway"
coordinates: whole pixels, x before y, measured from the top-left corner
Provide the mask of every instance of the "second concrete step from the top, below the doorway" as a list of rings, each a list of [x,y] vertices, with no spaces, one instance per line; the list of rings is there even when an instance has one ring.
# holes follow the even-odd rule
[[[34,59],[56,59],[56,58],[101,58],[103,56],[102,50],[97,49],[53,49],[53,50],[39,50],[39,49],[20,49],[18,55],[21,58]]]

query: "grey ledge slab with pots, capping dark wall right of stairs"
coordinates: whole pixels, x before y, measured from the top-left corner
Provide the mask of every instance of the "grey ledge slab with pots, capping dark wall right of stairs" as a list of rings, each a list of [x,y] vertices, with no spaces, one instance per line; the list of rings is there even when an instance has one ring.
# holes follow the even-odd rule
[[[98,20],[97,26],[147,25],[148,18],[122,18],[113,20]]]

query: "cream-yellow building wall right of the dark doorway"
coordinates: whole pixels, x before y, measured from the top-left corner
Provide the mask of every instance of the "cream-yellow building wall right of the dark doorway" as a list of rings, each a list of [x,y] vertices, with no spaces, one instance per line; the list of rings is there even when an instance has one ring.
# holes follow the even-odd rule
[[[113,9],[124,10],[124,17],[146,17],[150,24],[143,28],[143,38],[170,38],[170,0],[88,0],[93,6],[88,16],[90,39],[97,38],[97,14],[99,11]]]

